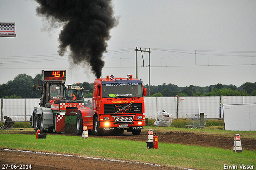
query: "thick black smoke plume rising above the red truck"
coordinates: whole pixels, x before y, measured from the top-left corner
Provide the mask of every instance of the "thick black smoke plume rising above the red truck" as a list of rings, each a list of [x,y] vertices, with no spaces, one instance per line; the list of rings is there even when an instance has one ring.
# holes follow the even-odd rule
[[[89,63],[97,78],[102,74],[110,29],[118,24],[111,0],[35,0],[38,16],[51,26],[63,25],[59,35],[60,56],[67,48],[75,64]]]

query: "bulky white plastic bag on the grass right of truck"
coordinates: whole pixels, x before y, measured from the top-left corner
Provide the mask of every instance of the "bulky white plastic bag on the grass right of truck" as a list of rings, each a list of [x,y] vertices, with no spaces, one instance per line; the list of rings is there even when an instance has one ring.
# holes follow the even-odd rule
[[[165,112],[164,110],[156,112],[155,126],[171,126],[172,124],[172,114]]]

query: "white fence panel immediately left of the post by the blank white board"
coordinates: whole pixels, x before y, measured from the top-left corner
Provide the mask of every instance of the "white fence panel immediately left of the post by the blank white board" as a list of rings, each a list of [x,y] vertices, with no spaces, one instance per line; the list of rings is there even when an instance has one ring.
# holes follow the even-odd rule
[[[220,117],[220,96],[200,96],[199,114],[207,114],[207,118]]]

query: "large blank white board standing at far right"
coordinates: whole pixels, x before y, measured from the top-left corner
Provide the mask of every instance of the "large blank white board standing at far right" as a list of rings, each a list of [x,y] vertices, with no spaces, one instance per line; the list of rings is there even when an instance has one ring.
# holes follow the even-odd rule
[[[256,130],[256,104],[223,105],[225,130]]]

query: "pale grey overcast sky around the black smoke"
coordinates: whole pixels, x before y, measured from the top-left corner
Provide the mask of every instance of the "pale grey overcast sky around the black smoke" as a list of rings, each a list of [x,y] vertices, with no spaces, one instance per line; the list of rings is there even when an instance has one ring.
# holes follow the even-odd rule
[[[255,0],[114,0],[102,77],[136,76],[136,52],[151,48],[151,85],[210,86],[256,82]],[[62,28],[45,31],[33,0],[0,0],[0,22],[15,22],[16,38],[0,37],[0,84],[18,74],[67,70],[66,84],[94,82],[88,66],[58,56]],[[143,60],[144,57],[144,67]],[[138,78],[149,83],[148,52],[138,52]]]

